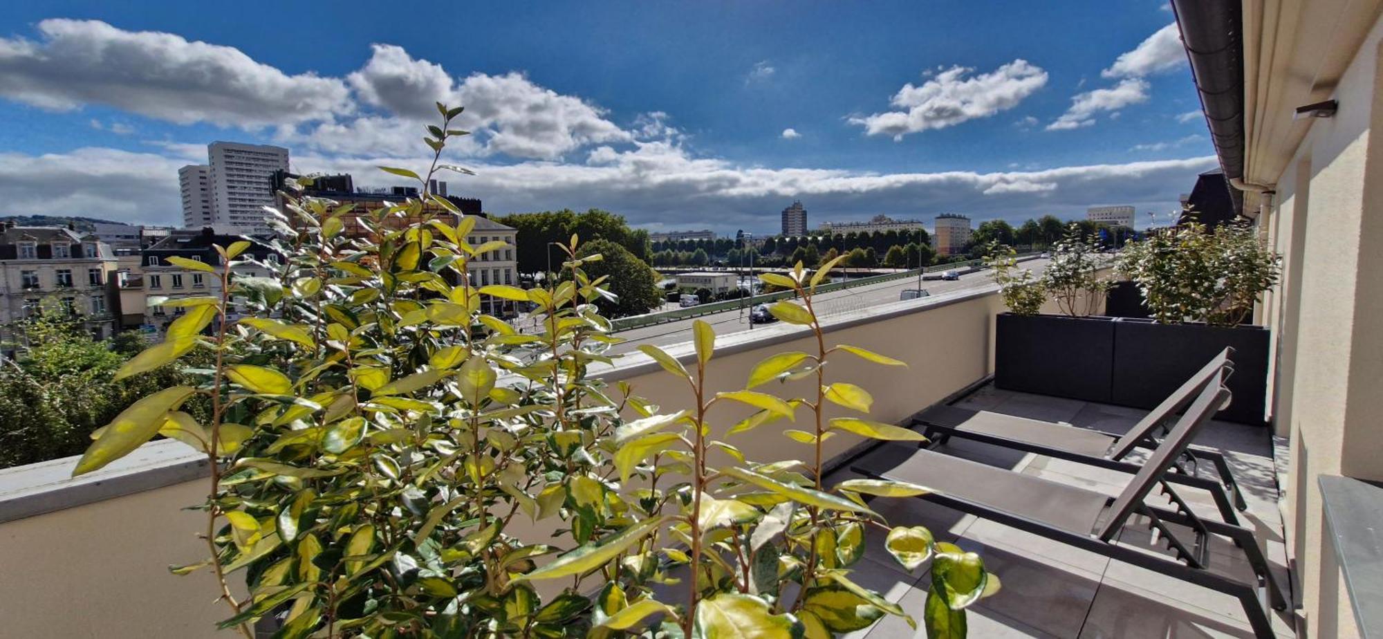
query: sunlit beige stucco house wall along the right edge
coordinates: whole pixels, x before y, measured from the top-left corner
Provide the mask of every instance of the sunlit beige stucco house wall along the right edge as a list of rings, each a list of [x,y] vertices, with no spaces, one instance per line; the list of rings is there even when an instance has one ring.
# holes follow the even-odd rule
[[[1274,414],[1292,443],[1290,550],[1308,636],[1357,636],[1324,537],[1317,477],[1383,479],[1383,79],[1375,24],[1277,181],[1274,242],[1285,256],[1270,314]]]

